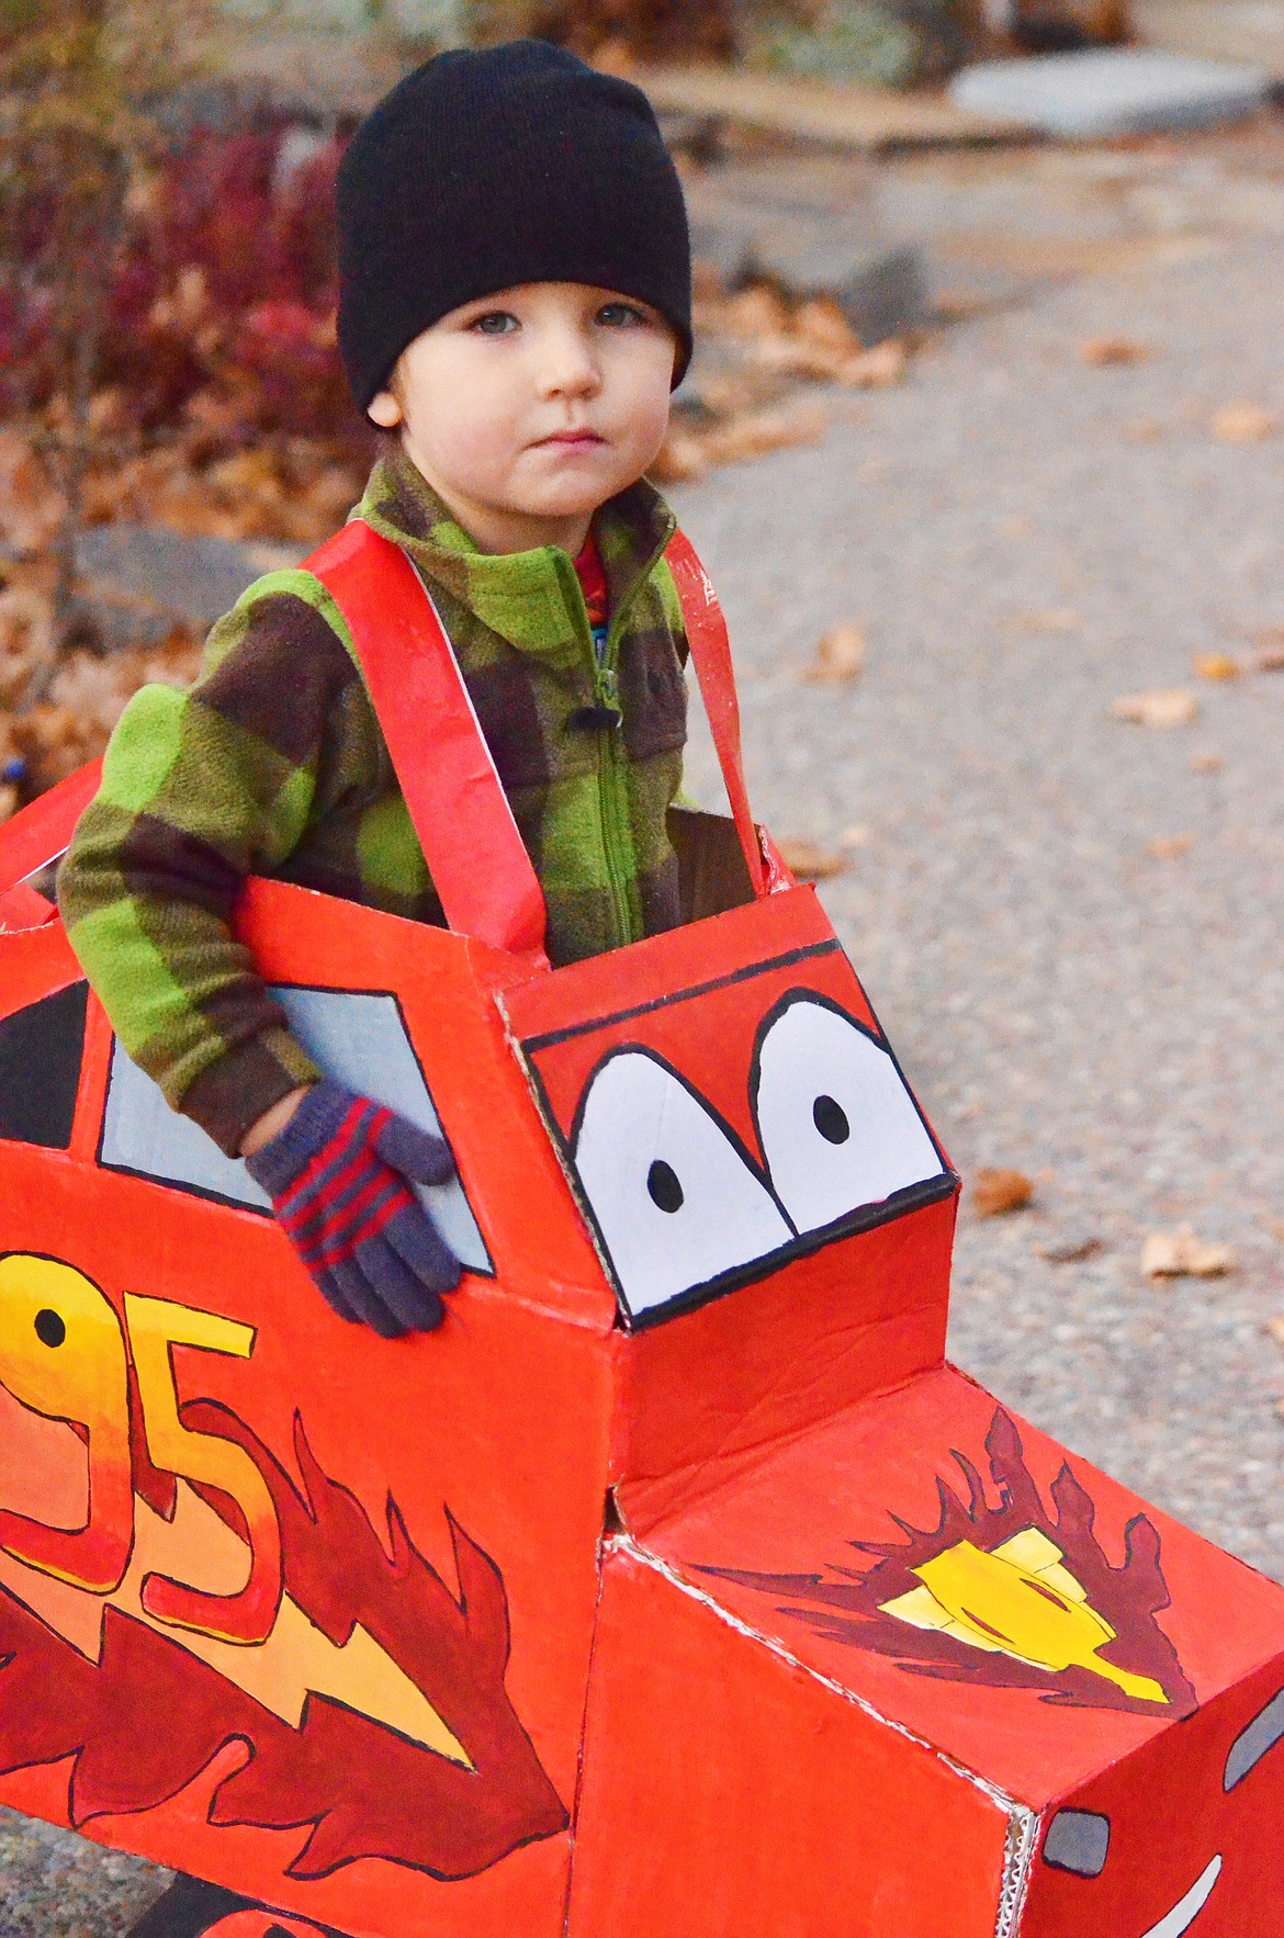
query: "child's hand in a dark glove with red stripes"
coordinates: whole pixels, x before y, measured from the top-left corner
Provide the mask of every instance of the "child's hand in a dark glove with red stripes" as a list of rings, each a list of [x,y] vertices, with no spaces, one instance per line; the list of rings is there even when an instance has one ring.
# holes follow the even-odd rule
[[[442,1324],[461,1266],[407,1184],[453,1176],[442,1138],[321,1078],[246,1171],[339,1318],[385,1339]]]

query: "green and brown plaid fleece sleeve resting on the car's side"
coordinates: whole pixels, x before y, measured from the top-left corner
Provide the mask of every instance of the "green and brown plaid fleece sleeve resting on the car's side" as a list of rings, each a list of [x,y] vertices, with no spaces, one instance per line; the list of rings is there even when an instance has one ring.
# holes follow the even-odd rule
[[[230,915],[298,845],[358,678],[329,593],[271,574],[215,626],[190,692],[141,688],[58,872],[68,938],[130,1056],[230,1155],[320,1072]]]

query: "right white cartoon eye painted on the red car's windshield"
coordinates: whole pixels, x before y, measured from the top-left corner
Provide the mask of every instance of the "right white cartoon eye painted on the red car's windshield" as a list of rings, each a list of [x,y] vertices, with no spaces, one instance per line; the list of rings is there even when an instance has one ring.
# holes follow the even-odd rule
[[[819,1231],[945,1165],[889,1052],[815,998],[796,996],[759,1050],[757,1134],[798,1231]]]

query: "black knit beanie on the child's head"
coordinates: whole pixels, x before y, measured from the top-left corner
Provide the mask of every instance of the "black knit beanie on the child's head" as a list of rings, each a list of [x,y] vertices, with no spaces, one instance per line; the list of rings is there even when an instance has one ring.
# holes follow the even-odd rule
[[[639,87],[544,41],[438,54],[339,167],[339,349],[358,409],[449,310],[517,283],[649,302],[691,359],[682,184]]]

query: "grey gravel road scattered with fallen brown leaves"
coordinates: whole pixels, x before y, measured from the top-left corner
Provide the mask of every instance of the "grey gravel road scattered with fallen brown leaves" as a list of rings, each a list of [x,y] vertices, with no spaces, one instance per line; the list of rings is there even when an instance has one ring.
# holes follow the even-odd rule
[[[902,227],[964,283],[1001,256],[1015,306],[902,388],[833,399],[821,444],[674,498],[730,614],[759,814],[848,837],[823,899],[928,1112],[964,1176],[1038,1180],[1024,1213],[964,1211],[953,1357],[1284,1576],[1284,1353],[1263,1333],[1284,1312],[1284,672],[1191,672],[1253,663],[1255,628],[1284,624],[1284,438],[1208,428],[1239,399],[1284,419],[1284,190],[1270,169],[1218,188],[1216,149],[1088,161],[891,178]],[[1005,250],[978,246],[978,207]],[[1100,335],[1148,357],[1088,368]],[[850,618],[864,678],[804,682]],[[1195,725],[1112,719],[1170,686],[1199,692]],[[709,791],[707,750],[691,769]],[[1181,1221],[1239,1269],[1146,1281],[1145,1233]],[[107,1938],[159,1882],[0,1816],[0,1938]]]

